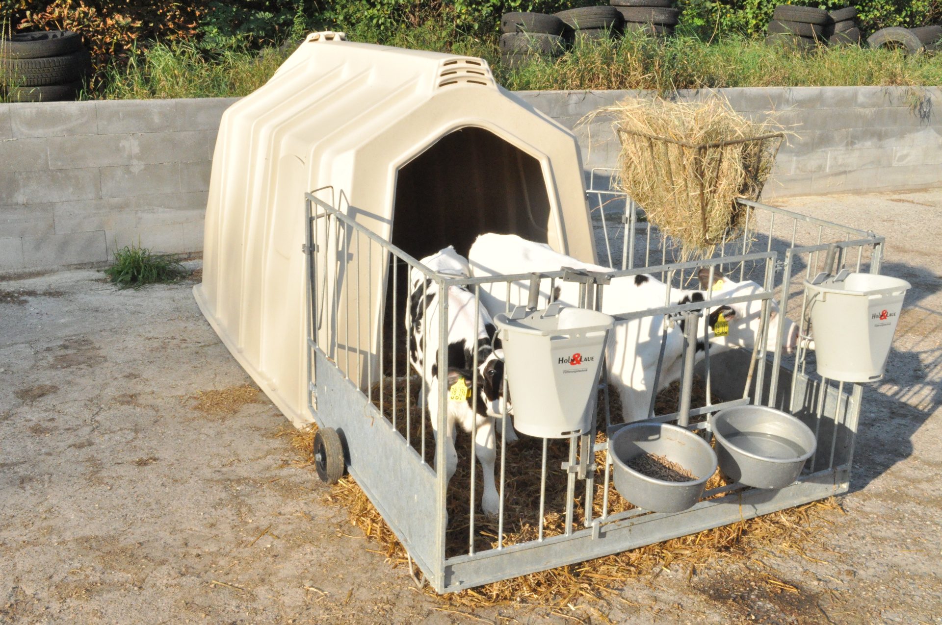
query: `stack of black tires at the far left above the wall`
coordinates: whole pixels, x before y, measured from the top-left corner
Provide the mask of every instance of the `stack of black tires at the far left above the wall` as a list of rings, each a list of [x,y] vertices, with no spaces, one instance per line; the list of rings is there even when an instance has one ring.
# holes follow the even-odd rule
[[[74,100],[89,65],[82,36],[69,30],[0,39],[0,72],[12,102]]]

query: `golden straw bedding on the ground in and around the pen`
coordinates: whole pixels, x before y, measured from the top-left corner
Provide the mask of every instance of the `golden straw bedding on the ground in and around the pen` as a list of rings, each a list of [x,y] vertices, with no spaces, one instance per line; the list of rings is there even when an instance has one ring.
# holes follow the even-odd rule
[[[416,413],[415,400],[417,391],[410,385],[413,395],[412,410]],[[387,415],[390,413],[389,405],[392,398],[393,385],[386,383],[383,387],[383,408]],[[402,409],[402,402],[406,397],[404,380],[396,385],[398,407]],[[379,393],[378,385],[374,386],[373,395]],[[672,412],[676,409],[679,388],[674,384],[671,388],[658,395],[658,414]],[[601,399],[601,397],[600,397]],[[703,405],[706,394],[702,384],[694,389],[694,405]],[[610,397],[612,401],[612,422],[620,422],[620,407],[617,397]],[[376,402],[378,403],[378,401]],[[616,416],[616,414],[618,416]],[[404,419],[397,420],[398,429],[405,434]],[[411,441],[416,447],[420,446],[421,434],[417,420],[411,420]],[[291,444],[303,458],[298,466],[309,466],[313,463],[313,443],[316,426],[304,430],[290,430],[286,434],[291,436]],[[598,441],[604,441],[604,434],[599,433]],[[560,443],[560,441],[556,441]],[[468,526],[470,510],[467,502],[467,492],[470,482],[469,471],[469,444],[470,437],[462,433],[456,447],[459,454],[459,469],[448,483],[448,531],[447,553],[449,556],[466,553],[468,545]],[[498,443],[499,445],[499,440]],[[426,432],[426,454],[429,460],[434,449],[431,439],[430,427]],[[537,537],[539,519],[534,511],[533,502],[539,498],[539,473],[542,442],[523,437],[521,441],[508,446],[506,485],[506,521],[504,544],[510,545]],[[549,445],[548,467],[560,467],[560,462],[568,453],[567,444]],[[600,515],[603,503],[603,476],[601,467],[604,466],[604,452],[596,454],[596,465],[600,467],[596,474],[595,493],[593,497],[594,514]],[[480,470],[478,484],[480,484]],[[535,473],[535,475],[534,475]],[[550,470],[547,476],[546,501],[547,509],[552,510],[544,516],[544,536],[556,536],[564,532],[564,517],[560,514],[560,503],[565,496],[565,473],[560,470]],[[725,485],[723,476],[718,472],[707,482],[707,489],[714,489]],[[480,492],[480,488],[478,489]],[[581,492],[580,492],[581,491]],[[577,488],[580,494],[575,506],[574,518],[581,520],[584,510],[584,488]],[[722,496],[722,495],[720,495]],[[379,511],[370,503],[362,489],[352,477],[347,476],[334,485],[325,500],[334,505],[343,505],[349,512],[351,524],[360,528],[367,537],[381,545],[387,561],[394,567],[406,563],[406,552],[399,544],[398,539],[382,520]],[[555,506],[553,504],[556,504]],[[523,575],[511,580],[483,585],[478,588],[463,590],[439,597],[430,587],[426,592],[431,597],[438,598],[443,603],[453,606],[484,607],[505,603],[509,601],[527,601],[530,603],[565,605],[577,601],[579,598],[597,600],[613,592],[613,588],[624,585],[625,580],[640,575],[651,574],[659,567],[681,567],[692,575],[694,569],[702,570],[719,557],[748,560],[756,549],[773,548],[777,550],[797,550],[802,552],[801,543],[810,539],[816,529],[812,524],[815,512],[825,508],[836,507],[832,498],[825,502],[803,505],[788,510],[751,519],[739,521],[731,525],[714,528],[687,537],[674,538],[656,545],[649,545],[625,553],[596,558],[577,565],[544,570],[537,573]],[[614,489],[609,486],[609,513],[621,512],[633,507],[625,501]],[[475,515],[476,537],[475,545],[479,550],[486,550],[496,545],[496,521],[484,515]],[[576,529],[578,526],[576,526]]]

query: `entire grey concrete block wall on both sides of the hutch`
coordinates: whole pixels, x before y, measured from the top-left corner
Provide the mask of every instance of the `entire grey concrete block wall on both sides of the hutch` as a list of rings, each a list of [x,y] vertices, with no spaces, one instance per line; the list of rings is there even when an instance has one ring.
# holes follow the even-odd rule
[[[939,88],[728,88],[736,110],[773,111],[793,136],[764,199],[942,184]],[[611,119],[578,126],[637,91],[518,91],[574,129],[583,163],[613,168]],[[219,119],[233,99],[0,104],[0,274],[101,263],[138,241],[203,248]]]

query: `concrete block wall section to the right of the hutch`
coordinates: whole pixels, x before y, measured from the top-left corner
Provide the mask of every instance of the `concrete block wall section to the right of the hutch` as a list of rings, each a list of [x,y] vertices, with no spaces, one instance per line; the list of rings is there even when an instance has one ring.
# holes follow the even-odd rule
[[[681,100],[718,94],[753,119],[769,115],[791,133],[763,199],[894,191],[942,184],[939,88],[802,87],[684,90]],[[579,121],[638,91],[519,91],[529,104],[574,129],[586,168],[614,168],[612,118]]]

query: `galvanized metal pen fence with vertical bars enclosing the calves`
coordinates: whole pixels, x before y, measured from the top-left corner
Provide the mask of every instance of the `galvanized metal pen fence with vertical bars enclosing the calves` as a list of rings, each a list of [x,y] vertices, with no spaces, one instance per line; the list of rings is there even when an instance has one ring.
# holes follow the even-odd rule
[[[611,266],[612,259],[621,256],[621,267],[605,272],[560,270],[468,278],[436,274],[357,223],[351,216],[355,211],[342,195],[337,205],[318,198],[317,192],[305,195],[309,409],[319,425],[342,434],[349,473],[405,546],[410,567],[414,560],[438,592],[622,552],[848,488],[861,387],[853,385],[847,393],[844,383],[835,387],[814,373],[806,300],[802,296],[801,304],[796,303],[796,289],[804,293],[801,280],[813,277],[826,263],[879,272],[884,239],[740,200],[749,212],[744,232],[735,240],[724,240],[709,258],[678,262],[677,247],[657,227],[643,221],[633,202],[610,189],[596,188],[595,171],[591,182],[588,196],[597,200],[593,211],[601,217],[604,259]],[[621,202],[621,215],[607,214],[607,202]],[[714,298],[712,289],[707,289],[706,302],[677,303],[675,295],[702,268],[709,272],[708,284],[721,272],[726,276],[738,273],[740,281],[757,279],[755,290]],[[447,393],[439,393],[438,405],[429,409],[425,379],[432,359],[423,358],[424,370],[418,374],[407,355],[410,348],[426,354],[430,331],[435,331],[438,371],[447,371],[448,298],[439,297],[432,304],[439,307],[438,327],[426,329],[419,345],[405,323],[411,272],[426,279],[422,297],[416,299],[423,319],[429,319],[427,295],[432,288],[439,294],[451,287],[465,289],[473,294],[476,307],[481,305],[482,294],[500,294],[505,310],[510,311],[515,304],[534,303],[529,296],[534,290],[540,294],[535,304],[544,307],[558,284],[576,281],[578,305],[601,310],[612,280],[640,274],[659,278],[666,284],[663,306],[613,314],[618,323],[650,323],[658,329],[658,341],[683,321],[676,403],[672,399],[671,409],[656,414],[658,398],[651,393],[646,416],[676,422],[708,440],[709,414],[747,403],[766,404],[785,409],[809,425],[818,438],[819,451],[808,461],[802,477],[785,489],[751,489],[725,483],[717,476],[700,503],[689,510],[642,510],[625,501],[612,485],[608,440],[620,426],[616,404],[621,402],[605,370],[589,433],[560,441],[522,437],[513,444],[508,441],[512,397],[505,375],[502,389],[509,401],[502,403],[494,438],[499,508],[495,517],[481,514],[479,487],[485,475],[478,472],[478,425],[473,425],[467,441],[459,435],[459,468],[448,480],[447,445],[435,444],[433,435],[447,431]],[[782,316],[770,324],[773,302]],[[754,344],[751,349],[726,349],[711,356],[709,328],[701,317],[711,309],[734,304],[756,309],[759,321]],[[792,355],[783,353],[787,351],[783,331],[788,314],[797,320],[801,337]],[[772,337],[770,350],[771,329],[777,336]],[[705,354],[695,364],[698,340],[705,345]],[[475,354],[472,370],[477,371],[478,365]],[[658,359],[655,388],[663,370]],[[703,379],[705,396],[694,402],[698,376]],[[477,402],[478,376],[473,376],[471,392],[472,401]],[[714,403],[714,397],[719,401]]]

